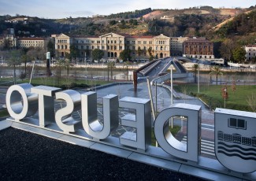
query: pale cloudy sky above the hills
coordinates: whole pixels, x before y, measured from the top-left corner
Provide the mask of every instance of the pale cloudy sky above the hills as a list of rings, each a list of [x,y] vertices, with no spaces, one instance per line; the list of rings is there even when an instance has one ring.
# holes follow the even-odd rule
[[[255,0],[0,0],[0,15],[59,19],[91,17],[139,9],[184,9],[195,6],[249,8]]]

